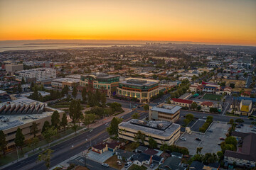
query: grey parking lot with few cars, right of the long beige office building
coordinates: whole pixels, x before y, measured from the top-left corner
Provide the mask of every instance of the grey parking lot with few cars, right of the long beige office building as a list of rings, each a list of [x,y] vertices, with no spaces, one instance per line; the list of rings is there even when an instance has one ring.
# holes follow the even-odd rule
[[[230,125],[228,125],[227,123],[214,122],[209,128],[210,130],[213,130],[213,132],[206,132],[206,134],[200,134],[197,132],[192,132],[191,134],[185,133],[183,137],[186,138],[186,141],[179,139],[176,142],[176,145],[188,148],[189,154],[191,155],[196,154],[197,147],[203,147],[201,152],[202,154],[206,154],[209,152],[217,153],[221,150],[218,143],[223,142],[219,138],[225,138],[225,134],[228,132],[229,126]],[[195,140],[196,137],[200,138],[201,141]]]

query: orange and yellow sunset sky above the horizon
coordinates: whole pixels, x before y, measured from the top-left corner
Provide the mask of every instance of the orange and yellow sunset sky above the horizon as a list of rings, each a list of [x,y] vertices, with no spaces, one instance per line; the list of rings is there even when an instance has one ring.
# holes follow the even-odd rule
[[[256,45],[255,0],[0,0],[0,40]]]

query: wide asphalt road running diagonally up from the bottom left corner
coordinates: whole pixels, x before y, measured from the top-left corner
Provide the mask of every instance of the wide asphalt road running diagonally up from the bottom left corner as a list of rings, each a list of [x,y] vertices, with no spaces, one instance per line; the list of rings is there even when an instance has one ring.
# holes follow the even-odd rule
[[[124,115],[124,120],[130,119],[132,114],[136,111],[132,111],[131,113],[128,113]],[[145,118],[147,113],[142,113],[140,115],[140,118]],[[102,142],[107,137],[109,137],[108,133],[106,132],[106,128],[110,123],[106,123],[103,125],[100,125],[99,127],[93,129],[92,131],[84,132],[81,135],[78,135],[76,137],[73,137],[70,140],[67,140],[65,142],[62,142],[58,145],[55,145],[53,147],[50,147],[53,152],[53,156],[50,159],[50,166],[55,166],[60,164],[61,162],[65,161],[66,159],[69,159],[70,157],[75,156],[76,154],[79,154],[85,149],[88,149],[91,145],[95,145],[97,143]],[[91,139],[91,140],[90,140]],[[44,170],[46,169],[46,166],[44,162],[37,162],[38,154],[35,154],[31,157],[28,157],[26,159],[23,159],[20,162],[16,162],[14,164],[11,164],[10,166],[5,167],[3,170]],[[97,162],[96,162],[97,163]],[[95,162],[90,162],[90,160],[87,160],[87,164],[90,164],[90,169],[97,169],[97,166],[95,165]],[[96,166],[94,168],[94,166]],[[101,166],[101,169],[104,168]]]

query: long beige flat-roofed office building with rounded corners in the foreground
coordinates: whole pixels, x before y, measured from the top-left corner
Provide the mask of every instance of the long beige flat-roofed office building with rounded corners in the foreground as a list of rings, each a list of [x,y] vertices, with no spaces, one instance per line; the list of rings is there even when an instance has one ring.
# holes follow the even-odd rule
[[[152,137],[160,147],[164,143],[173,145],[180,136],[181,126],[169,121],[137,120],[132,119],[118,125],[118,137],[135,142],[134,135],[138,131],[145,134],[144,143],[149,145],[149,137]]]

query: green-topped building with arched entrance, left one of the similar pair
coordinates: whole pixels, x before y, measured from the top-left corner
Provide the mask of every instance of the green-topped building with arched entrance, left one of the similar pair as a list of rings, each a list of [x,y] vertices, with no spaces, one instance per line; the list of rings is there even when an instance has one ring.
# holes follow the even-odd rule
[[[87,86],[93,90],[99,89],[100,91],[105,92],[107,96],[112,96],[116,93],[118,82],[118,75],[103,73],[81,75],[80,78],[80,86]]]

